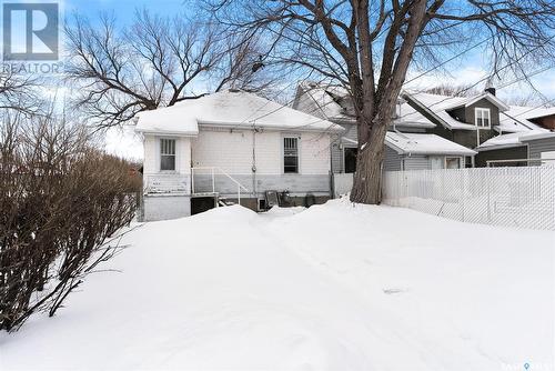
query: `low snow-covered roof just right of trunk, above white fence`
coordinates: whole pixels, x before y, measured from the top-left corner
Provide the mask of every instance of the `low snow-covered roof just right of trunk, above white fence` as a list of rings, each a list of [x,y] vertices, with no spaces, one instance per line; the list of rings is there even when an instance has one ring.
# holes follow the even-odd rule
[[[403,154],[474,156],[475,151],[436,134],[389,131],[385,144]]]

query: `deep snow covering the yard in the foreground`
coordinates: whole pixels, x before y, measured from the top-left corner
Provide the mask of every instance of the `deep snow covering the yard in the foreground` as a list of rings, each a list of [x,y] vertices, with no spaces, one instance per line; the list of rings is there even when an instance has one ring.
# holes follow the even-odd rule
[[[346,201],[152,222],[0,369],[553,370],[555,233]],[[527,368],[525,368],[527,364]]]

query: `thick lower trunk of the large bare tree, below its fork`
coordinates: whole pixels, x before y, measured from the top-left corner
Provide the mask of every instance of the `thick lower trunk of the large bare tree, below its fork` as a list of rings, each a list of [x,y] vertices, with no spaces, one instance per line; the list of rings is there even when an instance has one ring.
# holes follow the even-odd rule
[[[380,204],[382,201],[382,163],[386,132],[386,122],[374,124],[369,141],[359,150],[351,190],[352,202]]]

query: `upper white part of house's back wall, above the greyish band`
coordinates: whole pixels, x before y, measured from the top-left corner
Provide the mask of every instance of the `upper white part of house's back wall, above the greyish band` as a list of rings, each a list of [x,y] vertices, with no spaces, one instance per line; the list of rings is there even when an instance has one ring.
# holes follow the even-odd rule
[[[255,142],[253,142],[255,136]],[[330,171],[330,136],[312,132],[233,131],[201,129],[192,139],[193,167],[218,167],[230,174],[251,174],[253,147],[258,174],[283,173],[283,137],[300,140],[300,173],[327,174]]]

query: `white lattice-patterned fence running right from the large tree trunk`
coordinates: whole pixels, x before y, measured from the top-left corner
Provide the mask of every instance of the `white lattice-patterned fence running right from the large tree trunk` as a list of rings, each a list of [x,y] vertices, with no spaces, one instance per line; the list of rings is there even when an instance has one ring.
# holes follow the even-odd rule
[[[555,230],[555,167],[391,171],[383,203],[464,222]]]

